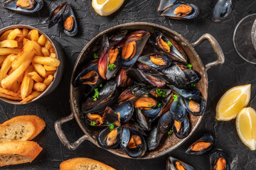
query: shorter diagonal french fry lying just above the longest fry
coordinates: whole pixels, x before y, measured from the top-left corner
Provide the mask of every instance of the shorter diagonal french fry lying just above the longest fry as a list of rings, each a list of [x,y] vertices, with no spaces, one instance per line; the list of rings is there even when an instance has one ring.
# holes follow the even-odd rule
[[[26,45],[23,46],[21,52],[18,54],[18,57],[14,60],[11,64],[11,68],[17,69],[21,66],[21,64],[26,61],[27,58],[34,56],[35,53],[33,52],[34,44],[32,41],[26,42]]]

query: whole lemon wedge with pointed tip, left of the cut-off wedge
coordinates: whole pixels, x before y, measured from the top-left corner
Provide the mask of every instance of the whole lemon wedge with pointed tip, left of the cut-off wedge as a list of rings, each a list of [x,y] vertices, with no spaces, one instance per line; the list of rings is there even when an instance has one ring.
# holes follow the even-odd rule
[[[238,115],[250,101],[251,85],[235,86],[229,89],[218,101],[216,107],[217,120],[231,120]]]

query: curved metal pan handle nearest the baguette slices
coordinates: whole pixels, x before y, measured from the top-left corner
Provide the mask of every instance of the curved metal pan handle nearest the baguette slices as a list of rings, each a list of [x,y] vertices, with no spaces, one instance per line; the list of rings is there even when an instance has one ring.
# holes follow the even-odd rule
[[[65,136],[65,133],[63,132],[63,130],[61,128],[61,125],[63,123],[67,123],[70,120],[73,120],[73,118],[74,118],[74,115],[71,114],[71,115],[68,115],[65,118],[60,118],[59,120],[56,120],[55,123],[54,123],[54,128],[55,128],[55,131],[56,131],[56,133],[57,133],[57,135],[60,139],[60,142],[62,142],[63,145],[68,147],[68,149],[70,149],[70,150],[77,149],[82,144],[82,142],[84,142],[85,140],[88,140],[87,135],[83,135],[77,141],[75,141],[74,143],[71,143],[68,140],[68,138]]]

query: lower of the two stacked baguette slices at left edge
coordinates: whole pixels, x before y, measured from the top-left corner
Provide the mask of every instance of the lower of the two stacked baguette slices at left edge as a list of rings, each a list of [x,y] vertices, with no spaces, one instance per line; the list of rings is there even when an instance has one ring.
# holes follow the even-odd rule
[[[32,162],[42,148],[32,141],[10,141],[0,144],[0,166]]]

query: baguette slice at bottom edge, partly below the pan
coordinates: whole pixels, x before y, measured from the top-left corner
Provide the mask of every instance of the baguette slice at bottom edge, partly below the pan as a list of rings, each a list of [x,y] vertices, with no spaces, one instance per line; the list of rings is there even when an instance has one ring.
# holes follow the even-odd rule
[[[112,167],[89,158],[68,159],[60,164],[60,170],[115,170]]]

